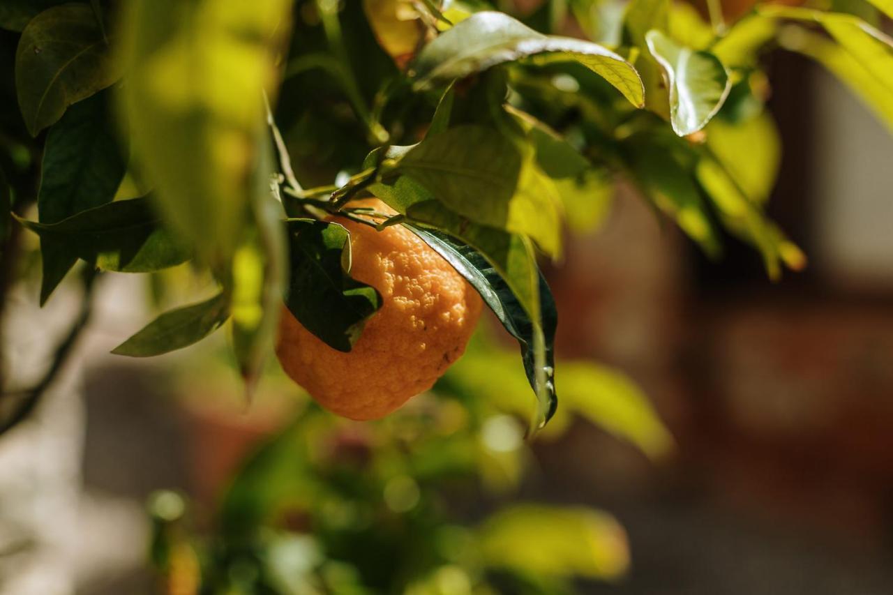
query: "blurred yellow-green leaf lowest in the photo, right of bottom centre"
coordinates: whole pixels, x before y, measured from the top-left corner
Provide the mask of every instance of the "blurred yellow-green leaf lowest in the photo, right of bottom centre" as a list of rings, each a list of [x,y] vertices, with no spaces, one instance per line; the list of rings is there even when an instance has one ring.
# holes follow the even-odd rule
[[[487,566],[519,574],[615,580],[630,566],[621,525],[589,508],[506,507],[480,525],[478,541]]]

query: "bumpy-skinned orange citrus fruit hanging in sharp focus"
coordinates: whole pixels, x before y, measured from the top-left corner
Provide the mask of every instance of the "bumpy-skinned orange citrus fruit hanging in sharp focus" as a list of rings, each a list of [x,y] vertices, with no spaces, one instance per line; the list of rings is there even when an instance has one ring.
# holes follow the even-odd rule
[[[378,200],[362,204],[393,213]],[[350,231],[350,275],[378,289],[382,306],[348,353],[317,339],[285,309],[276,355],[321,406],[350,419],[377,419],[429,390],[462,356],[482,302],[462,275],[405,227],[377,231],[341,217],[332,221]]]

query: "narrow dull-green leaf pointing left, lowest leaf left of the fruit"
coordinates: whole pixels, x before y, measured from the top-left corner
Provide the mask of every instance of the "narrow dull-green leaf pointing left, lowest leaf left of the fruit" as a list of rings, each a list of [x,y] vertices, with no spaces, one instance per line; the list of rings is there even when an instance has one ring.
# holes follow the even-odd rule
[[[204,302],[165,312],[112,353],[151,357],[185,348],[216,331],[229,315],[228,299],[221,293]]]

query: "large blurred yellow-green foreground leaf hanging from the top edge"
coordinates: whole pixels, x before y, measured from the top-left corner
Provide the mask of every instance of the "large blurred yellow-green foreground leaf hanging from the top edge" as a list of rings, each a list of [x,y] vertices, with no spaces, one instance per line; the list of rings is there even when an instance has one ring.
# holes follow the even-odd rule
[[[278,80],[289,0],[133,0],[124,6],[124,113],[162,213],[228,274],[268,141],[264,91]]]

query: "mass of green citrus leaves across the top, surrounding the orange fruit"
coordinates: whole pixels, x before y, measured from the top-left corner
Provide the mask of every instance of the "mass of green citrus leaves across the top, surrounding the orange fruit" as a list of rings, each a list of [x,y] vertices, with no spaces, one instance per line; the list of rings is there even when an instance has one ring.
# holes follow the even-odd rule
[[[893,126],[893,44],[877,26],[889,3],[834,5],[853,13],[760,4],[708,23],[669,0],[516,14],[477,0],[4,3],[19,107],[4,111],[4,177],[14,213],[38,202],[22,223],[40,236],[41,301],[77,259],[149,272],[190,258],[220,297],[117,351],[162,353],[230,318],[249,386],[283,294],[340,349],[379,307],[349,258],[333,266],[337,229],[296,226],[336,213],[406,226],[519,339],[541,426],[555,411],[555,311],[536,259],[560,258],[566,217],[598,221],[614,180],[711,256],[730,233],[772,278],[803,266],[764,215],[779,151],[761,54],[814,58]],[[350,205],[369,196],[397,214]],[[314,294],[322,278],[340,297]]]

